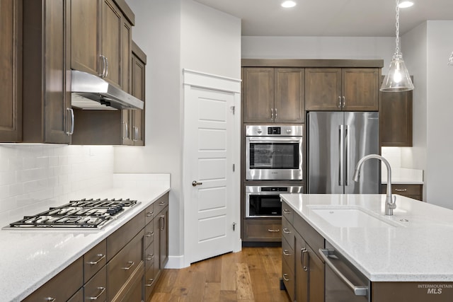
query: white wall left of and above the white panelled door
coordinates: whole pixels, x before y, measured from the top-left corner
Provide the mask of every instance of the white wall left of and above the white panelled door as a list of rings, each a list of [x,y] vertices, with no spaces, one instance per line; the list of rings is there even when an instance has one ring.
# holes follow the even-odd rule
[[[127,0],[147,54],[144,147],[115,147],[117,173],[171,173],[169,253],[183,255],[182,70],[241,78],[241,21],[192,0]]]

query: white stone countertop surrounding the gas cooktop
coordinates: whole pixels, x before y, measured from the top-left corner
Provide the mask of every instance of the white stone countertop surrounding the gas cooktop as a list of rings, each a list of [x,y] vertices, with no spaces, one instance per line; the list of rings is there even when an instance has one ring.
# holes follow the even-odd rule
[[[21,301],[169,190],[168,175],[168,182],[156,186],[125,185],[90,195],[95,199],[130,198],[140,202],[100,231],[2,229],[0,300]]]

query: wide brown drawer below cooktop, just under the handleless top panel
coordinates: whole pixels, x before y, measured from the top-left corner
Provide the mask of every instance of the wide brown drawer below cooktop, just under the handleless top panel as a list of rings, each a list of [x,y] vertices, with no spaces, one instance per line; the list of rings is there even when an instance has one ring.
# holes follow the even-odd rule
[[[142,215],[138,215],[142,216]],[[144,217],[144,216],[142,216]],[[137,267],[143,265],[143,230],[107,264],[108,301],[112,301]]]

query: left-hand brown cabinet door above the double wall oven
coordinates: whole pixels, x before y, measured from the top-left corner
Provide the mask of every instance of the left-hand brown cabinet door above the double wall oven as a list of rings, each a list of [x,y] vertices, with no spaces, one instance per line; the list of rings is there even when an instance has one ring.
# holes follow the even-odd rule
[[[274,121],[274,69],[243,69],[243,122]]]

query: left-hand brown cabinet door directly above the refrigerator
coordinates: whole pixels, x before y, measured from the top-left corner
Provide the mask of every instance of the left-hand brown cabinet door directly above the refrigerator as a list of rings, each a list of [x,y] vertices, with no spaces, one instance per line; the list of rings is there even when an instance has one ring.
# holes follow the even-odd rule
[[[341,69],[305,69],[305,109],[341,110]]]

